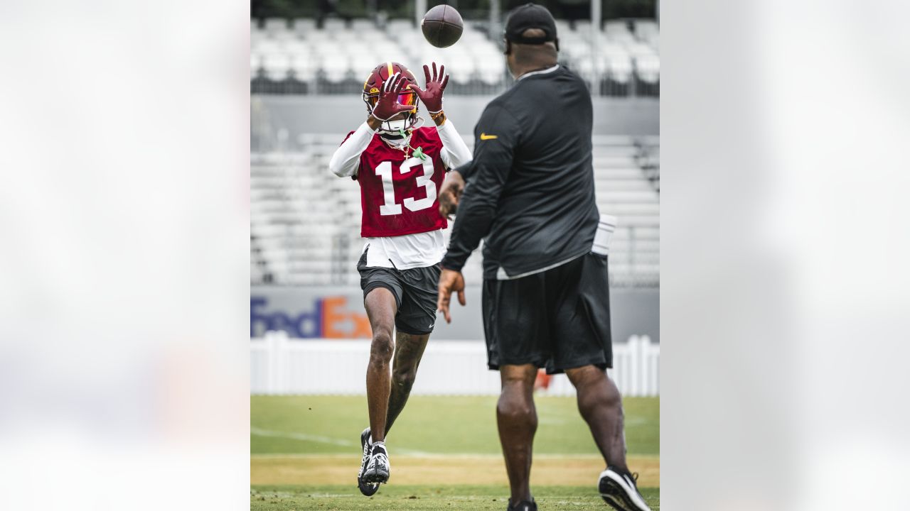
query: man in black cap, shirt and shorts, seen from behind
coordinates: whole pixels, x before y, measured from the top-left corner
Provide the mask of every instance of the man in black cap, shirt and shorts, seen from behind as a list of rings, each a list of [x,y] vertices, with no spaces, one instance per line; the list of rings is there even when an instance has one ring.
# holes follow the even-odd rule
[[[622,399],[612,366],[606,243],[612,217],[594,200],[591,95],[560,65],[550,11],[527,4],[506,21],[505,55],[516,83],[493,99],[474,128],[474,158],[450,172],[440,214],[457,206],[442,259],[438,307],[465,304],[461,268],[483,239],[483,326],[490,369],[499,369],[496,406],[511,486],[510,511],[535,511],[531,446],[537,429],[538,368],[566,373],[606,469],[603,499],[649,509],[625,460]],[[596,239],[595,239],[596,238]]]

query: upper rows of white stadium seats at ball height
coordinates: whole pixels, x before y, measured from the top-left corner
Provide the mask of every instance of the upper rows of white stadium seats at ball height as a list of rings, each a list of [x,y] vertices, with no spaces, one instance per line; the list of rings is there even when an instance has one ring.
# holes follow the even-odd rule
[[[600,29],[597,29],[600,28]],[[445,64],[452,94],[498,94],[511,85],[499,35],[465,21],[458,44],[435,48],[411,20],[381,25],[368,19],[267,19],[250,26],[250,89],[254,94],[349,94],[379,62]],[[592,94],[660,95],[660,32],[654,20],[557,20],[561,62],[581,75]]]

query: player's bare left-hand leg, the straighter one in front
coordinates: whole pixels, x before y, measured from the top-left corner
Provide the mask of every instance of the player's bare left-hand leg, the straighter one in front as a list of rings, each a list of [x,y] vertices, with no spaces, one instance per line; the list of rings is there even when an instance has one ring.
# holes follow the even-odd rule
[[[389,385],[391,381],[389,362],[395,344],[392,329],[398,305],[395,296],[385,287],[376,287],[364,300],[373,330],[373,342],[369,348],[367,366],[367,406],[369,408],[369,431],[373,442],[385,440],[386,416],[389,412]]]

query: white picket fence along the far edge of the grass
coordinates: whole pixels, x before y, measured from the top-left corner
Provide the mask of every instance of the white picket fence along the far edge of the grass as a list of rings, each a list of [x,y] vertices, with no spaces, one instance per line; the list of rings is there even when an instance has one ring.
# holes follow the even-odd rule
[[[250,339],[249,388],[252,394],[366,393],[369,340],[289,339],[269,332]],[[648,336],[613,343],[609,374],[623,396],[660,395],[661,346]],[[433,341],[420,362],[414,395],[498,395],[500,375],[487,369],[479,341]],[[543,396],[574,396],[565,375],[553,376]]]

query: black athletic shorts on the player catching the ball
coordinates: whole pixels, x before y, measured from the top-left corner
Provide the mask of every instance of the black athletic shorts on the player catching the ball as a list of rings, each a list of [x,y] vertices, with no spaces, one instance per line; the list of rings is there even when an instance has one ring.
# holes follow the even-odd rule
[[[436,325],[436,299],[439,296],[442,266],[437,263],[433,266],[406,270],[368,267],[367,250],[363,251],[357,263],[363,299],[366,300],[373,289],[385,287],[392,292],[398,304],[395,328],[399,332],[414,336],[430,334]]]

